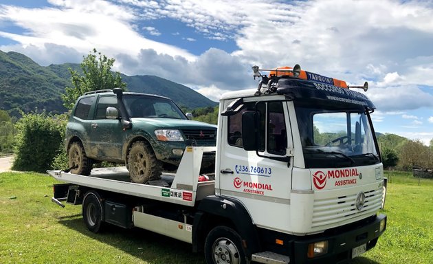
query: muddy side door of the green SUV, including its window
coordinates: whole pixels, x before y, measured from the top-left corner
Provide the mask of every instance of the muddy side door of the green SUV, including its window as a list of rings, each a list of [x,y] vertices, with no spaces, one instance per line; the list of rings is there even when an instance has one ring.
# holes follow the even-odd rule
[[[107,107],[119,111],[118,99],[113,95],[100,95],[96,103],[95,115],[89,132],[91,153],[103,160],[121,161],[123,146],[123,128],[120,118],[107,119]]]

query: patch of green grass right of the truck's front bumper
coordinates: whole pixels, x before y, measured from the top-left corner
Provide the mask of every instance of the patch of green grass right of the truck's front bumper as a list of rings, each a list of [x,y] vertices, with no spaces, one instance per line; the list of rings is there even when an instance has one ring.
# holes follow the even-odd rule
[[[390,179],[383,210],[388,215],[386,232],[375,249],[353,264],[431,263],[433,180],[419,181],[412,173],[396,171],[386,177]]]

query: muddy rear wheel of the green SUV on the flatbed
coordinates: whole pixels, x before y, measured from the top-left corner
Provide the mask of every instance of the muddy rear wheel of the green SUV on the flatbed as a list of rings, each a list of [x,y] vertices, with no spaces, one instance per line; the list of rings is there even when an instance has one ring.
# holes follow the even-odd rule
[[[71,173],[89,175],[91,171],[91,159],[86,156],[81,142],[73,142],[67,151],[67,159]]]

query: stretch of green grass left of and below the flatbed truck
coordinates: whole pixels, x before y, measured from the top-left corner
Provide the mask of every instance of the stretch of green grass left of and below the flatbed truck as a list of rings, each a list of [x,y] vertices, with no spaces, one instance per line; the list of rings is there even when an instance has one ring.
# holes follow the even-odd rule
[[[89,232],[80,206],[50,201],[55,182],[0,173],[0,263],[204,263],[189,244],[145,230]]]

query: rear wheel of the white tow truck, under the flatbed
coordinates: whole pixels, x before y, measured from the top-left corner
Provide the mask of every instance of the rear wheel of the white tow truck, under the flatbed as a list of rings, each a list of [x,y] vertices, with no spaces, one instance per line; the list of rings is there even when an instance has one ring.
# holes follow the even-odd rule
[[[93,233],[102,231],[102,203],[97,192],[89,191],[82,201],[82,219]]]

